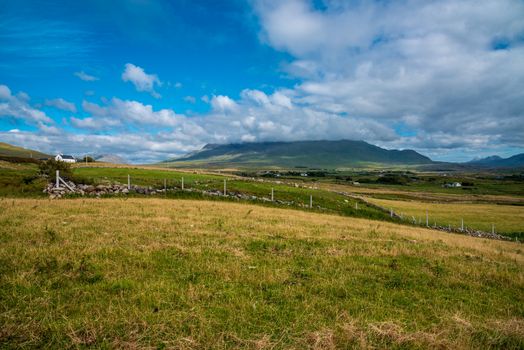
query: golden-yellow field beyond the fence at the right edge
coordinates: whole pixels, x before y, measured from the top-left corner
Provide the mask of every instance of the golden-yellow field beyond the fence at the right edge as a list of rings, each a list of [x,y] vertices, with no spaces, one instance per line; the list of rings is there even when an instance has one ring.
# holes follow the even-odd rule
[[[402,201],[367,198],[368,201],[384,208],[392,208],[404,216],[414,216],[417,220],[453,227],[464,225],[476,230],[491,232],[492,224],[499,233],[524,238],[524,206],[495,204],[464,204],[464,203],[426,203],[418,201]]]

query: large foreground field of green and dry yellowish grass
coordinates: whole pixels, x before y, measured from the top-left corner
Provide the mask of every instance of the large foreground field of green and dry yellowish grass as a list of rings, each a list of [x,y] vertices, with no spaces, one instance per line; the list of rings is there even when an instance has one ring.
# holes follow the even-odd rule
[[[0,348],[523,346],[517,243],[234,203],[0,199]]]

